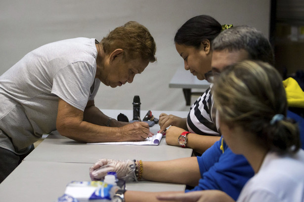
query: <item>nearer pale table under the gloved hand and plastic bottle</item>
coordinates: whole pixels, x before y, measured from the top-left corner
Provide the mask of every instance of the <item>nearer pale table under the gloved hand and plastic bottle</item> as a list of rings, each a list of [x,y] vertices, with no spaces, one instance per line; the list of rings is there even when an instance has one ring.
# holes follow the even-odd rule
[[[23,161],[0,184],[1,202],[56,202],[64,194],[65,186],[74,180],[90,181],[89,163]],[[183,185],[134,182],[127,183],[128,190],[181,191]]]

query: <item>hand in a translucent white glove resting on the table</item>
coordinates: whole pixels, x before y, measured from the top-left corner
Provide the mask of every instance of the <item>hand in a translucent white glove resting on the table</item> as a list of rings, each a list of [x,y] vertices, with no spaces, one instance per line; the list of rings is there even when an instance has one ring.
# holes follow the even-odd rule
[[[100,159],[89,168],[91,180],[103,180],[108,172],[116,172],[118,179],[137,181],[133,160]]]

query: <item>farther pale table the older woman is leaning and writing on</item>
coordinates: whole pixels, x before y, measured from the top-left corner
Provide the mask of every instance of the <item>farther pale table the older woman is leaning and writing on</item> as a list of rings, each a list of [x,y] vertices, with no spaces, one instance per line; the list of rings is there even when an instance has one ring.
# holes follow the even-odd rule
[[[116,118],[119,113],[125,114],[129,120],[132,117],[131,110],[101,110],[105,115]],[[141,110],[141,119],[145,116],[145,110]],[[152,111],[158,118],[161,111]],[[174,114],[179,117],[187,117],[188,112],[165,111],[166,114]],[[150,131],[157,133],[160,129],[158,124],[150,128]],[[176,158],[191,156],[192,149],[169,146],[166,139],[162,138],[158,146],[138,145],[94,145],[76,142],[72,139],[61,136],[57,131],[52,132],[42,143],[25,158],[26,161],[46,162],[80,162],[94,163],[98,159],[141,159],[143,161],[167,161]],[[57,154],[57,155],[55,155]]]

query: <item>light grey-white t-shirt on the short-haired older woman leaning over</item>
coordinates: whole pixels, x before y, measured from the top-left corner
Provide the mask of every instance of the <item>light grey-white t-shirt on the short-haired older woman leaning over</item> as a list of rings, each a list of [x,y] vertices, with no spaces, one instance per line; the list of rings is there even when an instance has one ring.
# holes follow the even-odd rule
[[[29,52],[0,76],[0,147],[24,154],[56,130],[58,97],[84,111],[100,84],[96,57],[95,39],[61,40]]]

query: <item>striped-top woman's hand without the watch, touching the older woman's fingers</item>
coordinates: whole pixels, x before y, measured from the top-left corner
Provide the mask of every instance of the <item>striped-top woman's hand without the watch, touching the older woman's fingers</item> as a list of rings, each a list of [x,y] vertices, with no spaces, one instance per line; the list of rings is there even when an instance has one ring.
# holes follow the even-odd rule
[[[162,113],[159,116],[159,122],[158,123],[161,127],[159,133],[163,133],[166,130],[166,128],[169,127],[170,125],[181,127],[181,128],[186,128],[187,127],[186,119],[176,117],[174,115],[167,115],[165,113]]]

